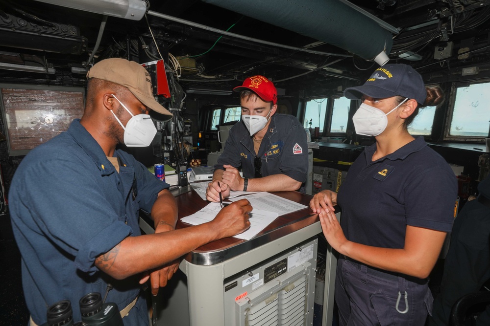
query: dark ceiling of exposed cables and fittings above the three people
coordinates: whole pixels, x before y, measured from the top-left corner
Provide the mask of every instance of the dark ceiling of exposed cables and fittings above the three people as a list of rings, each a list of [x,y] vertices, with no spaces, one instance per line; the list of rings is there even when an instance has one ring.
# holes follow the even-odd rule
[[[277,87],[294,89],[304,96],[332,94],[363,82],[378,66],[371,61],[373,58],[367,60],[350,52],[348,45],[334,46],[319,42],[318,37],[290,30],[294,28],[276,26],[283,19],[278,12],[287,11],[294,0],[263,1],[270,3],[268,22],[251,18],[256,17],[253,14],[244,15],[240,10],[203,1],[149,2],[147,19],[107,18],[93,62],[108,57],[129,57],[143,63],[158,59],[159,50],[166,61],[170,55],[182,66],[174,75],[180,75],[175,81],[184,91],[191,87],[229,89],[248,76],[262,74]],[[228,2],[233,6],[233,1]],[[398,30],[390,35],[393,37],[390,62],[413,65],[427,81],[459,76],[463,67],[475,65],[483,72],[490,62],[489,1],[351,0],[350,3]],[[343,29],[352,26],[361,32],[364,26],[356,17],[341,17],[348,26]],[[291,16],[284,17],[287,19],[291,20]],[[72,67],[81,71],[90,67],[87,61],[96,47],[102,20],[100,14],[35,0],[0,0],[0,82],[83,84],[83,73],[73,73],[76,70]],[[293,21],[296,28],[301,28],[301,24],[309,23],[309,17],[295,17],[293,13]],[[329,19],[316,24],[319,30],[339,34],[335,26],[329,26],[334,24]],[[221,35],[219,30],[233,35]],[[337,36],[341,43],[358,42],[344,40],[342,33]],[[411,55],[408,59],[413,60],[400,59],[400,55]],[[27,65],[41,71],[5,70],[8,65]],[[169,65],[171,70],[175,67]],[[42,70],[46,68],[51,68],[51,73]]]

